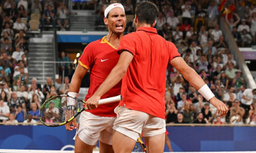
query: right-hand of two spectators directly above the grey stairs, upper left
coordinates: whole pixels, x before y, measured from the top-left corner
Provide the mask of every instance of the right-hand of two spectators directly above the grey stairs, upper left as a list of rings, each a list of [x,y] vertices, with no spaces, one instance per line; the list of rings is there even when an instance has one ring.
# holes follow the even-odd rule
[[[57,9],[57,15],[59,17],[57,23],[59,27],[61,28],[61,31],[65,31],[65,28],[67,26],[68,20],[67,20],[67,15],[69,15],[69,10],[65,6],[65,3],[61,1],[59,3],[59,7]]]

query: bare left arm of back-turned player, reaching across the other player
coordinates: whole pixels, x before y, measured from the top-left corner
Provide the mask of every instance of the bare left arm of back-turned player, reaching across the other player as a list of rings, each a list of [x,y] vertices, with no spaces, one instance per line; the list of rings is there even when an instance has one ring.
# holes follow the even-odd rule
[[[106,77],[106,80],[100,85],[98,90],[88,99],[86,103],[86,107],[89,109],[94,109],[98,107],[98,101],[100,100],[100,97],[104,95],[108,90],[113,88],[125,75],[127,72],[127,68],[129,64],[131,63],[131,60],[133,60],[133,54],[130,52],[122,52],[121,56],[119,58],[119,61],[117,62],[117,65],[111,70],[110,74],[108,74],[108,77]]]

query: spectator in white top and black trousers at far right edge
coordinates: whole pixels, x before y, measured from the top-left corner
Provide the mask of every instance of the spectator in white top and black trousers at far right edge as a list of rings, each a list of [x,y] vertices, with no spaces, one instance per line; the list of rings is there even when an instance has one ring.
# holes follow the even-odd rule
[[[245,109],[244,119],[249,116],[250,105],[253,103],[253,97],[256,95],[256,89],[245,89],[242,96],[241,107]]]

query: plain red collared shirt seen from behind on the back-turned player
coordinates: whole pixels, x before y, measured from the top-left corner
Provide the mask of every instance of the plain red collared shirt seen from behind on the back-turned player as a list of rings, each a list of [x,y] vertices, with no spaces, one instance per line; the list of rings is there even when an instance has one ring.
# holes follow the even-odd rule
[[[118,52],[123,51],[133,54],[133,60],[123,77],[123,101],[119,105],[164,119],[166,68],[170,60],[181,54],[155,28],[146,27],[123,36]]]

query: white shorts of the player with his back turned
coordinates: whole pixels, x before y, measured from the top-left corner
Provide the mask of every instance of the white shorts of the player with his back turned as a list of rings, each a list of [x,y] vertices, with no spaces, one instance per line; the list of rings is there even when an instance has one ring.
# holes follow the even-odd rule
[[[159,117],[123,106],[116,107],[115,113],[117,113],[117,119],[113,129],[135,141],[141,133],[144,137],[148,137],[166,132],[165,120]]]

